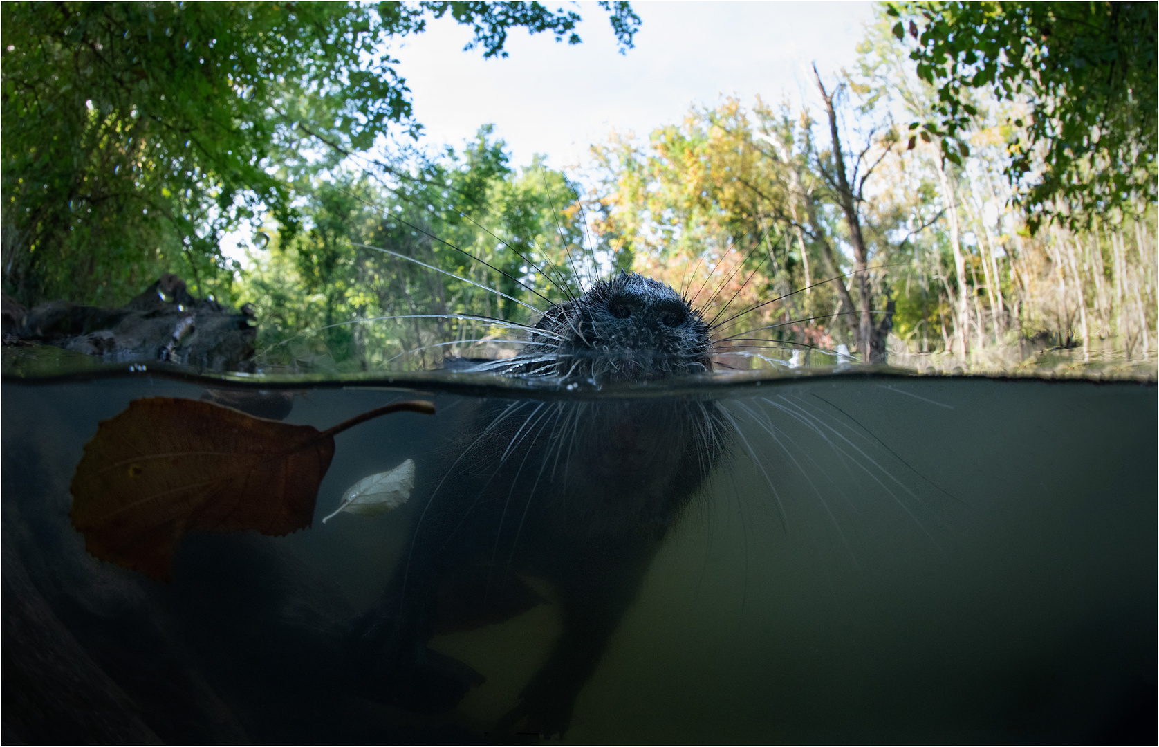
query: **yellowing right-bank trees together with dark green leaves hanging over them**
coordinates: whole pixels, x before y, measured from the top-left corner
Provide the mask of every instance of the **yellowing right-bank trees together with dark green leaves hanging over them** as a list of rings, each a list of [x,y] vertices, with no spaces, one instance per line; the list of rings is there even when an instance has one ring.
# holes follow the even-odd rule
[[[958,9],[978,5],[1018,7]],[[1120,81],[1114,90],[1073,78],[1050,87],[1041,66],[1019,90],[994,82],[983,51],[960,46],[958,58],[931,61],[943,52],[930,29],[955,21],[950,6],[883,6],[859,65],[815,75],[815,106],[726,99],[644,142],[612,136],[595,148],[602,230],[670,281],[743,261],[735,277],[755,273],[745,303],[785,296],[764,322],[794,342],[839,340],[870,360],[884,360],[889,343],[895,358],[941,351],[964,364],[1033,342],[1153,356],[1153,60],[1111,56],[1102,68]],[[1153,17],[1153,6],[1131,10],[1140,9]],[[1103,21],[1115,32],[1130,22]],[[1138,51],[1154,50],[1153,31],[1150,46],[1132,34]],[[1032,58],[1047,57],[1027,44]],[[1080,93],[1081,104],[1064,101]],[[1067,106],[1106,116],[1078,133],[1081,122],[1050,118]]]

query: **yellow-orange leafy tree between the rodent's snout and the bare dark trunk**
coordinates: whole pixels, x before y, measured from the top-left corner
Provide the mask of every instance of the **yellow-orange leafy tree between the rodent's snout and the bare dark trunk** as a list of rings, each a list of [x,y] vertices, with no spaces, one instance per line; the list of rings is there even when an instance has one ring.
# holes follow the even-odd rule
[[[593,148],[603,240],[632,269],[686,290],[709,319],[753,309],[724,335],[829,346],[847,326],[837,285],[822,283],[847,269],[834,252],[845,223],[812,128],[807,113],[726,99],[657,128],[647,145]]]

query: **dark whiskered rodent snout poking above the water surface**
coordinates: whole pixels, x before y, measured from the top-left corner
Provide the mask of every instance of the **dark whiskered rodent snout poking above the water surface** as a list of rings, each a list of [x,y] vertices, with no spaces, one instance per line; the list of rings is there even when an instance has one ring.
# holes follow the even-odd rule
[[[529,350],[554,356],[566,379],[647,382],[712,370],[712,340],[699,311],[676,290],[636,273],[597,281],[583,296],[556,304],[535,325]],[[542,369],[540,369],[542,371]]]

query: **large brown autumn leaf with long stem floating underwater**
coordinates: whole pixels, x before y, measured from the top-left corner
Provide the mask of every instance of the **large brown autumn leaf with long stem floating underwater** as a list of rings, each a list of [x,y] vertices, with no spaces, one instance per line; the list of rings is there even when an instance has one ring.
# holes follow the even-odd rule
[[[92,554],[168,580],[191,529],[285,535],[308,527],[335,434],[400,411],[433,414],[435,406],[394,402],[319,430],[194,399],[134,399],[85,444],[70,516]]]

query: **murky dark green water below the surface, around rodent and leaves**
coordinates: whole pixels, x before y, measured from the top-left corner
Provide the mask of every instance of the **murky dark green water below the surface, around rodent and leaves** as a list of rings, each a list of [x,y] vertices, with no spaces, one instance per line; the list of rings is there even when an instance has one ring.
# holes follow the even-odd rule
[[[410,713],[343,679],[341,639],[403,561],[421,489],[381,516],[320,520],[407,458],[420,486],[432,479],[461,437],[455,413],[481,399],[644,396],[717,401],[736,435],[648,565],[562,741],[1156,738],[1153,384],[857,370],[612,393],[283,382],[286,422],[322,428],[416,397],[438,414],[338,435],[311,529],[191,535],[170,583],[87,556],[70,480],[97,422],[210,384],[245,389],[6,378],[7,741],[524,739],[493,731],[562,629],[551,579],[529,580],[545,603],[436,636],[487,681],[450,712]]]

